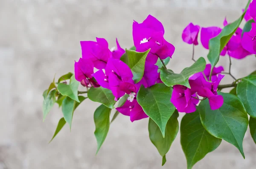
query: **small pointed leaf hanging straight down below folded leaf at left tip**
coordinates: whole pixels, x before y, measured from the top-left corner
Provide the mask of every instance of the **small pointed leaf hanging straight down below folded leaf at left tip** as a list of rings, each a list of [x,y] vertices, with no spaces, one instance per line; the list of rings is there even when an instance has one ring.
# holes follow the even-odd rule
[[[62,101],[62,105],[61,105],[63,117],[65,121],[67,121],[67,123],[70,125],[70,130],[71,130],[71,124],[73,119],[73,113],[75,110],[75,104],[76,104],[75,100],[71,99],[70,97],[66,97]]]

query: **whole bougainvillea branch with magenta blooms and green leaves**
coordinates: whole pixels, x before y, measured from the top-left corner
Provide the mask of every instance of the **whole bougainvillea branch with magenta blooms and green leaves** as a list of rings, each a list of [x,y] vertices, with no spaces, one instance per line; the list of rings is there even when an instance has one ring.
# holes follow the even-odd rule
[[[52,139],[66,123],[71,128],[76,107],[88,98],[101,103],[94,113],[97,152],[117,115],[130,116],[131,122],[148,118],[149,138],[164,165],[179,130],[179,113],[185,113],[180,143],[188,169],[215,150],[222,139],[236,146],[244,157],[242,142],[248,125],[256,142],[256,71],[236,79],[230,68],[231,58],[256,54],[256,0],[249,0],[243,11],[233,23],[225,18],[223,28],[189,23],[181,37],[192,45],[195,63],[180,73],[166,68],[175,57],[175,47],[164,39],[162,23],[151,15],[143,23],[133,22],[134,46],[130,49],[124,50],[117,39],[116,48],[111,49],[103,38],[81,41],[81,58],[74,64],[74,74],[67,73],[58,82],[54,79],[43,94],[44,119],[55,103],[63,113]],[[242,20],[246,21],[243,29],[239,27]],[[199,41],[209,49],[210,64],[204,57],[194,58]],[[216,67],[220,56],[229,58],[228,71]],[[224,74],[233,82],[220,85]],[[78,90],[79,84],[83,91]],[[228,87],[232,87],[230,93],[221,92]],[[111,110],[115,112],[112,119]]]

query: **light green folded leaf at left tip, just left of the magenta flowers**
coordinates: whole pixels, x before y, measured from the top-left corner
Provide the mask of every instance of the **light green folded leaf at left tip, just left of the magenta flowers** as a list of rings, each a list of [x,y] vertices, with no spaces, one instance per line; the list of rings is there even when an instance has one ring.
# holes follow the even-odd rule
[[[61,95],[63,96],[68,96],[73,100],[76,100],[77,102],[79,102],[78,99],[78,86],[79,86],[79,82],[76,81],[75,76],[71,76],[70,77],[70,84],[67,85],[65,83],[59,83],[58,84],[58,91],[61,93]]]

